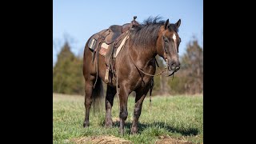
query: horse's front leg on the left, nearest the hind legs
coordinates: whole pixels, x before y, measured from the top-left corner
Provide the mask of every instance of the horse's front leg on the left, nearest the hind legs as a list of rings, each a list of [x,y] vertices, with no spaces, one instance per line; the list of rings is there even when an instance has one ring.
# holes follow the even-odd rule
[[[125,126],[126,118],[128,116],[127,100],[128,100],[128,95],[129,94],[130,94],[130,89],[127,88],[127,86],[120,86],[120,92],[119,92],[120,113],[119,113],[119,118],[120,118],[120,132],[121,132],[122,136],[125,134],[124,126]]]

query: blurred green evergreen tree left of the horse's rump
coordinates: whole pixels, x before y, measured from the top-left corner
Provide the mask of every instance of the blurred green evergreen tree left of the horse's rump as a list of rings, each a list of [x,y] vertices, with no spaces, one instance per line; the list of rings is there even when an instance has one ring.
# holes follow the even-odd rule
[[[77,58],[65,42],[53,70],[53,91],[62,94],[84,94],[82,59]]]

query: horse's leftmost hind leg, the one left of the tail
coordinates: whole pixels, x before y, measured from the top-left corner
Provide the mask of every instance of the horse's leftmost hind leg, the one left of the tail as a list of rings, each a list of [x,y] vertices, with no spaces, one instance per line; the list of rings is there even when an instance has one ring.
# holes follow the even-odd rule
[[[89,78],[86,78],[86,85],[85,85],[85,92],[86,92],[86,97],[85,97],[85,107],[86,107],[86,118],[85,121],[83,122],[83,127],[89,126],[89,114],[90,114],[90,106],[93,102],[92,94],[93,94],[93,89],[94,89],[94,76],[90,76]]]

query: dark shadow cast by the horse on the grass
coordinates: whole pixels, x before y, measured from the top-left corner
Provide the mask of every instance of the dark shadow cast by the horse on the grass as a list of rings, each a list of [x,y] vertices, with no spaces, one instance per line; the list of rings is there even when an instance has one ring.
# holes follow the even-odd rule
[[[113,124],[114,124],[113,125],[114,127],[119,127],[119,122],[113,122]],[[132,123],[131,122],[126,122],[125,126],[126,126],[126,131],[130,132]],[[154,126],[166,129],[171,133],[182,134],[183,136],[197,135],[198,132],[199,132],[198,129],[196,129],[196,128],[190,128],[190,129],[182,130],[182,129],[174,128],[172,126],[166,126],[166,124],[164,122],[153,122],[153,123],[147,123],[147,124],[138,123],[138,134],[141,134],[142,131],[145,130],[147,127],[154,127]]]

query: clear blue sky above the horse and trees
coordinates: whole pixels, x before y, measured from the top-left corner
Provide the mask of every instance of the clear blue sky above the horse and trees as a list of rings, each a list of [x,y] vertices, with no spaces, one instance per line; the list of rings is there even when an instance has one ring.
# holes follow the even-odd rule
[[[203,43],[203,2],[202,0],[130,0],[130,1],[53,1],[53,61],[65,42],[70,42],[74,54],[82,54],[86,41],[94,33],[111,25],[122,25],[130,22],[134,15],[138,22],[150,16],[169,18],[171,23],[180,18],[179,36],[182,43],[179,55],[184,54],[186,45],[193,38]]]

